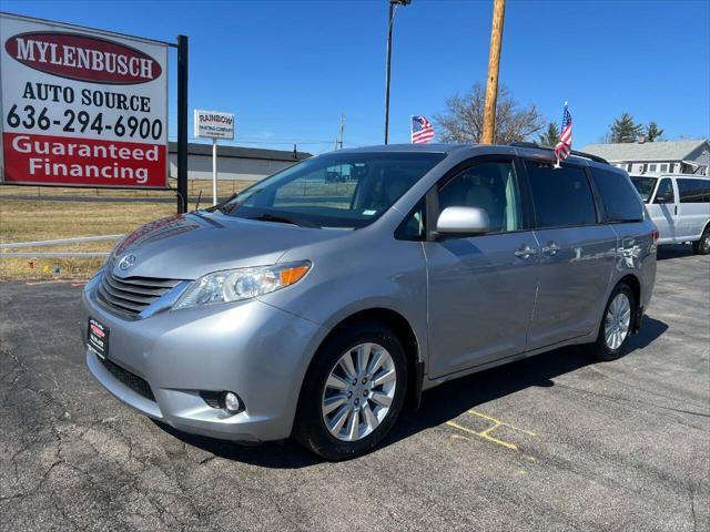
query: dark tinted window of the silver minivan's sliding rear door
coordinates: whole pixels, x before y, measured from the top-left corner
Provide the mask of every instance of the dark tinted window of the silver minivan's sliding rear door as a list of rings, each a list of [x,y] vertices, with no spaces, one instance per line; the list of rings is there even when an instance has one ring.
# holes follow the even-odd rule
[[[597,209],[584,168],[526,161],[536,226],[567,227],[597,223]]]

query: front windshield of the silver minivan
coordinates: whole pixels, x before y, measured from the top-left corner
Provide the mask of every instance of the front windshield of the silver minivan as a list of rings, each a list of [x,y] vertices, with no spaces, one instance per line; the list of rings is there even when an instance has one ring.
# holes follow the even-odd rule
[[[258,182],[217,205],[230,216],[355,229],[387,211],[444,153],[331,153]]]

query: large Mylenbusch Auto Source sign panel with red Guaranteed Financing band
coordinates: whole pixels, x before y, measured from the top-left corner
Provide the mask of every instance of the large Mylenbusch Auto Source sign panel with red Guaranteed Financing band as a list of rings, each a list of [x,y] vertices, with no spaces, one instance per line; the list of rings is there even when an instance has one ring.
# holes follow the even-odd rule
[[[0,14],[4,184],[168,186],[168,44]]]

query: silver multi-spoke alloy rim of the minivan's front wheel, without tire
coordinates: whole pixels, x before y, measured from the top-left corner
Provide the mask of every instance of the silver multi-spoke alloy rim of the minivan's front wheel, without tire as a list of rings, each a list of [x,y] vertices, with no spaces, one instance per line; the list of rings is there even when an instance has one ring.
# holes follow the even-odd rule
[[[387,417],[395,397],[397,371],[387,349],[366,342],[348,349],[325,382],[322,416],[327,430],[342,441],[358,441]]]

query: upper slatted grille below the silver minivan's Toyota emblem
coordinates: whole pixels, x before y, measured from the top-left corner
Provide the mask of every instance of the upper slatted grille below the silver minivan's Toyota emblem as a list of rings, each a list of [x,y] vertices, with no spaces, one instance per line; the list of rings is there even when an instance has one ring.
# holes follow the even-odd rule
[[[110,309],[134,318],[155,299],[173,288],[179,279],[155,277],[115,277],[110,267],[103,273],[99,284],[99,300]]]

